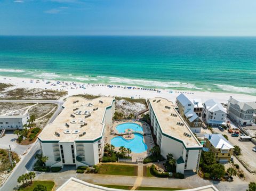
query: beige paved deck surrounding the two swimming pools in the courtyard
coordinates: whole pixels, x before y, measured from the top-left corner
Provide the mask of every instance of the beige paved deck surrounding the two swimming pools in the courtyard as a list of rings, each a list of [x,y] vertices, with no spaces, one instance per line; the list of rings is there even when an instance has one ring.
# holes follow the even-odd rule
[[[133,161],[136,161],[138,158],[144,158],[146,157],[148,154],[149,154],[149,150],[154,146],[154,144],[150,144],[150,137],[151,137],[151,134],[150,136],[148,135],[148,124],[146,122],[138,122],[138,121],[132,121],[132,120],[123,120],[122,122],[113,122],[113,126],[109,129],[106,129],[106,132],[105,132],[105,137],[107,138],[106,139],[106,143],[110,143],[111,139],[114,138],[114,137],[118,137],[119,135],[114,135],[114,134],[111,134],[111,130],[113,130],[113,132],[116,132],[118,133],[118,131],[116,130],[116,126],[118,126],[118,124],[123,124],[123,123],[136,123],[136,124],[139,124],[142,128],[143,128],[143,133],[147,134],[147,135],[144,135],[143,136],[143,140],[145,142],[145,144],[148,146],[147,148],[147,151],[145,152],[142,152],[142,153],[131,153],[131,156],[132,156],[132,160]],[[119,150],[119,147],[115,147],[115,151],[118,151]]]

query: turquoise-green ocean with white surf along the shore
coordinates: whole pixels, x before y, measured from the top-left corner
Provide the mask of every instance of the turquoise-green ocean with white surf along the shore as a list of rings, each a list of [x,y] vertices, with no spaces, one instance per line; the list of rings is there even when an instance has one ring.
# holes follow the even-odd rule
[[[0,76],[256,95],[256,38],[1,36]]]

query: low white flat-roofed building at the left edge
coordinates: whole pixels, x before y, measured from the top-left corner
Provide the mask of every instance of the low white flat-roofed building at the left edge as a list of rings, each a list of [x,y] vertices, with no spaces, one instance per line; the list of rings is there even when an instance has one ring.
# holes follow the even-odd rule
[[[0,115],[0,129],[22,130],[24,124],[28,124],[29,114]]]

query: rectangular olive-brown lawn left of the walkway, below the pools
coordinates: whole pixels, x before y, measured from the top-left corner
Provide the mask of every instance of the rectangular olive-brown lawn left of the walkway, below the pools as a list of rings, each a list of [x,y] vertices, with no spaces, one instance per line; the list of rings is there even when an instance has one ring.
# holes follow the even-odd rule
[[[101,164],[99,174],[137,176],[138,167],[134,165]]]

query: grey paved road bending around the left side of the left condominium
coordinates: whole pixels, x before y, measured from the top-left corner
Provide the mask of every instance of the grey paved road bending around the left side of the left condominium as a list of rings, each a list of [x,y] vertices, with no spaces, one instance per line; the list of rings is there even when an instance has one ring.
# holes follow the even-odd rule
[[[48,123],[51,123],[62,111],[63,101],[59,100],[0,100],[0,102],[9,103],[55,103],[58,104],[58,109],[54,112]],[[40,146],[38,140],[35,142],[34,146],[31,147],[30,151],[26,156],[17,164],[14,171],[11,173],[9,178],[5,181],[4,185],[0,188],[1,191],[13,190],[17,186],[17,179],[23,173],[27,173],[31,170],[32,165],[35,162],[35,155],[40,151]]]

